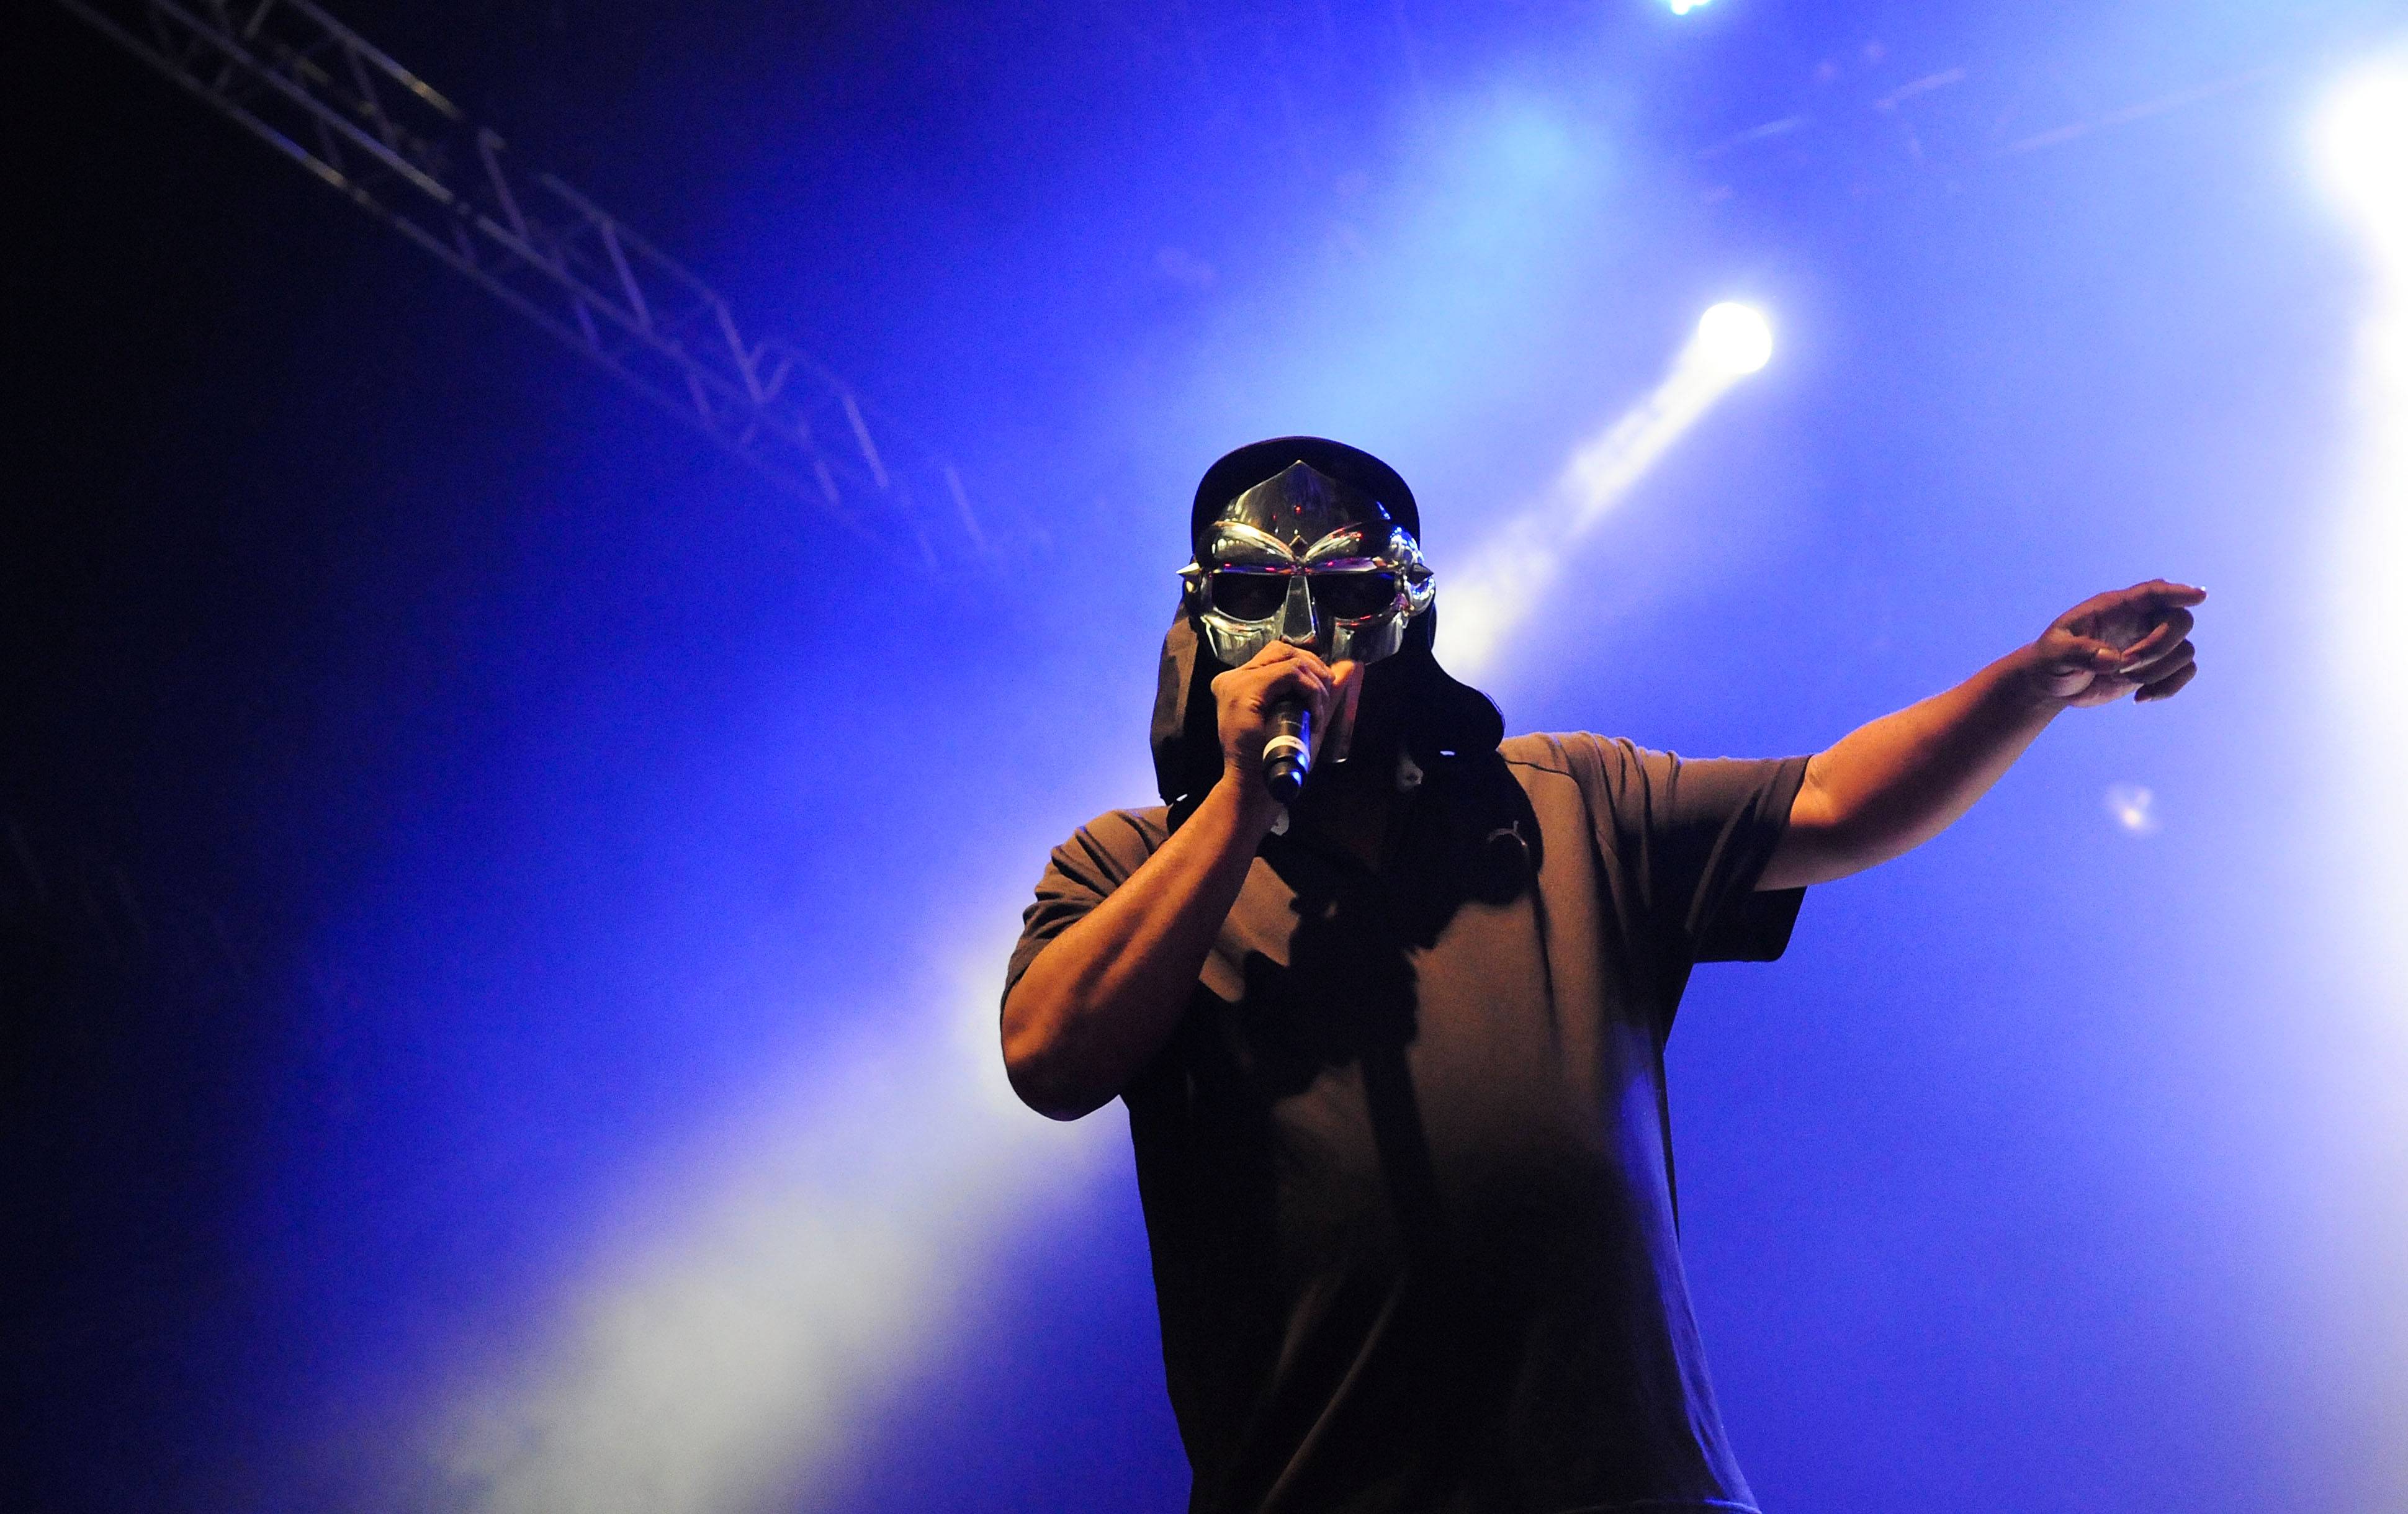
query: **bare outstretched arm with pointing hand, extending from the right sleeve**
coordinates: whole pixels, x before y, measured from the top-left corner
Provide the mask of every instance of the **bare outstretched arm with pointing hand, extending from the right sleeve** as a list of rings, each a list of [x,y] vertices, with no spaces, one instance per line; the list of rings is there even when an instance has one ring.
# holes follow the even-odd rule
[[[2199,672],[2191,607],[2206,597],[2160,578],[2085,599],[2032,645],[1818,751],[1755,886],[1830,883],[1912,852],[1972,809],[2059,710],[2172,698]]]

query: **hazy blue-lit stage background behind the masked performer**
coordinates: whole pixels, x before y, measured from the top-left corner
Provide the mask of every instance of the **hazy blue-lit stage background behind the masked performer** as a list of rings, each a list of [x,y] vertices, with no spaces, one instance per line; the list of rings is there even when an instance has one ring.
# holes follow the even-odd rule
[[[2408,1509],[2394,7],[342,17],[975,537],[840,530],[10,22],[24,1507],[1185,1507],[1127,1122],[995,1018],[1045,850],[1151,799],[1187,493],[1365,445],[1445,607],[1741,301],[1770,363],[1481,650],[1510,727],[1813,751],[2213,590],[2184,698],[1681,1009],[1763,1504]]]

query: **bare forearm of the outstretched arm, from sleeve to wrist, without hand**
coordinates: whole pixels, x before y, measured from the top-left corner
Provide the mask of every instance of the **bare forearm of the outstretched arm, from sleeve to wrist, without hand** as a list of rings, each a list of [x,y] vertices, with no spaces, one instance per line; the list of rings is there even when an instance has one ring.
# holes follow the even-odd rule
[[[1758,888],[1845,879],[1919,847],[2023,756],[2064,708],[2018,647],[1955,688],[1849,732],[1806,763],[1806,787]]]

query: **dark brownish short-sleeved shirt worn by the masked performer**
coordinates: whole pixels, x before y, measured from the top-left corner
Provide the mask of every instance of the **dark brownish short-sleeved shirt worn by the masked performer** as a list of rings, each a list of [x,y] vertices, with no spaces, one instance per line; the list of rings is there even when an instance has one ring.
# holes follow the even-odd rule
[[[1517,737],[1433,770],[1377,869],[1264,840],[1122,1090],[1197,1512],[1753,1509],[1674,1213],[1664,1037],[1755,893],[1806,758]],[[1310,794],[1308,794],[1310,802]],[[1009,982],[1153,854],[1055,850]]]

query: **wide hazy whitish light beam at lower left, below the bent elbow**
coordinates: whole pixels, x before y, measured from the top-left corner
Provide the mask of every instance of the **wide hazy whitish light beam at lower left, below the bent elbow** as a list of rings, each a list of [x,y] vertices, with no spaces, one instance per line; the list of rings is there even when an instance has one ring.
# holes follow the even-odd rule
[[[992,917],[1009,922],[1021,891]],[[527,1338],[455,1367],[393,1507],[819,1507],[879,1413],[980,1329],[997,1237],[1091,1187],[1120,1129],[1060,1126],[1011,1095],[995,1042],[1009,946],[1007,927],[961,953],[937,1040],[864,1013],[860,1045],[771,1081],[799,1095],[633,1184],[631,1218],[595,1237]]]

